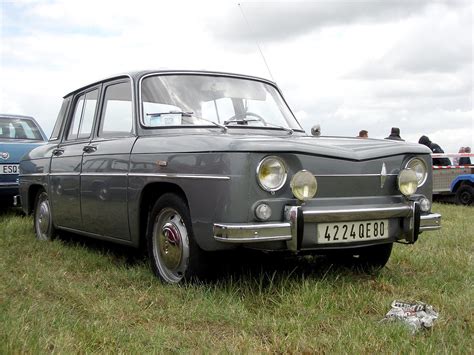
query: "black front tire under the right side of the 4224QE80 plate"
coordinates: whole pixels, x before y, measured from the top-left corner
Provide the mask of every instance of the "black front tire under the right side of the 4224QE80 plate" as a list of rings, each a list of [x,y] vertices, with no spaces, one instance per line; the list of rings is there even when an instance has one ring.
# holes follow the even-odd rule
[[[378,271],[382,269],[390,259],[393,243],[372,245],[356,248],[351,252],[344,252],[331,257],[336,264],[348,266],[363,272]]]

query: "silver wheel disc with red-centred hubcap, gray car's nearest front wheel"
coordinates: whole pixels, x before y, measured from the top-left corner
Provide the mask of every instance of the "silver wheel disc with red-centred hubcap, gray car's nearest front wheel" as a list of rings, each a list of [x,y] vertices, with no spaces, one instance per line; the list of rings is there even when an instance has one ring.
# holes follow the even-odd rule
[[[186,271],[189,257],[188,232],[180,214],[163,209],[153,227],[153,255],[161,276],[168,282],[179,282]]]

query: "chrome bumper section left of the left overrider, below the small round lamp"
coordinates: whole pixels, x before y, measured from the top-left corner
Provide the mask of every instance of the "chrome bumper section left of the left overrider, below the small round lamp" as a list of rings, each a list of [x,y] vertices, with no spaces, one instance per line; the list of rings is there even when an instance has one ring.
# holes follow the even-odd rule
[[[224,243],[253,243],[291,240],[290,222],[215,223],[214,239]]]

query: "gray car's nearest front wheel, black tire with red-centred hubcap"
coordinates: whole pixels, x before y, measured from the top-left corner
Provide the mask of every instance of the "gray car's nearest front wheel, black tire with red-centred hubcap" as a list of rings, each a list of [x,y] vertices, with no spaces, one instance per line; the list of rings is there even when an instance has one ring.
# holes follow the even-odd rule
[[[166,193],[148,219],[147,247],[153,272],[163,282],[176,284],[206,275],[205,252],[194,240],[191,216],[179,196]]]

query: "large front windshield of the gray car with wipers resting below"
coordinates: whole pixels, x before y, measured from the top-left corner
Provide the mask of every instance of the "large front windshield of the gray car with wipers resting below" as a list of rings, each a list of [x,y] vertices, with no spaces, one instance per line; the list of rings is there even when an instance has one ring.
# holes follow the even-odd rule
[[[205,75],[161,75],[142,82],[143,124],[271,127],[301,130],[278,91],[260,81]]]

